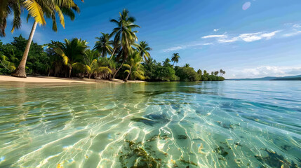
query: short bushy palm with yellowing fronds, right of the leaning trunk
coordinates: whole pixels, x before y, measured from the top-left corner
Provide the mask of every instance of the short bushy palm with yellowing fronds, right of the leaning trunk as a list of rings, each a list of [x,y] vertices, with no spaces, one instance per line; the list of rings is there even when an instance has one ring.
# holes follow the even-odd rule
[[[55,52],[62,57],[62,61],[69,67],[69,78],[73,67],[81,69],[81,62],[88,48],[87,42],[78,38],[73,38],[71,41],[65,39],[65,43],[54,48]]]

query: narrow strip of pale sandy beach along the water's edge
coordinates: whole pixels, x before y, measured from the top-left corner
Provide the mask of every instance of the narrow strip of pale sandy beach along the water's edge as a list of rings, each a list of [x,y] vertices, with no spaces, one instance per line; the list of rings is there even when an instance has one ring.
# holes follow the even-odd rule
[[[0,75],[1,82],[23,82],[23,83],[125,83],[123,80],[114,79],[113,81],[105,79],[88,79],[88,78],[58,78],[52,76],[27,76],[27,78],[18,78],[13,76]],[[145,83],[142,80],[128,80],[127,83]]]

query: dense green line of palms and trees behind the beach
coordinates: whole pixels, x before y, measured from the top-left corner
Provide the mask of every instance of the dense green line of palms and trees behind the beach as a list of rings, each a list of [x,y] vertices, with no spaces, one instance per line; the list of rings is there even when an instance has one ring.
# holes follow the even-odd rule
[[[140,27],[135,25],[135,18],[129,16],[126,9],[119,15],[117,20],[111,20],[116,25],[112,33],[101,33],[93,48],[79,38],[51,41],[46,45],[32,43],[31,39],[26,40],[22,35],[14,37],[11,43],[0,41],[0,73],[16,76],[20,65],[26,63],[24,68],[30,75],[122,78],[125,81],[224,80],[222,75],[225,71],[222,70],[209,74],[195,71],[189,64],[175,66],[180,59],[178,53],[172,55],[171,61],[167,58],[156,62],[149,54],[152,48],[147,42],[138,43],[136,33]]]

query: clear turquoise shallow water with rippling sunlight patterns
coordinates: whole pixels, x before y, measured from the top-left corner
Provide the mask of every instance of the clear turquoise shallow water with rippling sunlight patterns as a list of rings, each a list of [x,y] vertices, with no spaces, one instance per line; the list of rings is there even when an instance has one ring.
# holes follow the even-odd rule
[[[300,162],[300,81],[0,83],[0,167]]]

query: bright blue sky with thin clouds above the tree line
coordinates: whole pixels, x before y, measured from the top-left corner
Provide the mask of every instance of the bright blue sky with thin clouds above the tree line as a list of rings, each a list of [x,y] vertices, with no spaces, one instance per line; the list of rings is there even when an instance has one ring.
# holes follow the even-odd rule
[[[91,48],[100,31],[110,33],[109,22],[123,8],[134,16],[139,41],[147,41],[157,61],[180,53],[182,66],[216,71],[224,69],[227,78],[256,78],[301,74],[301,1],[300,0],[86,0],[76,1],[81,13],[58,32],[48,25],[36,30],[34,41],[44,44],[64,38],[83,38]],[[28,36],[32,19],[22,28],[1,38]],[[11,20],[11,18],[9,18]],[[11,24],[11,23],[8,23]]]

